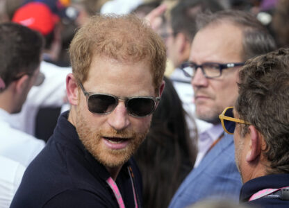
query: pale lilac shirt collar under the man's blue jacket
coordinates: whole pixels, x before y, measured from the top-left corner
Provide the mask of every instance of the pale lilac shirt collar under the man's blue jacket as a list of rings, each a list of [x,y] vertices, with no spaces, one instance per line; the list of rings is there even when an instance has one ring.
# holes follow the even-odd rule
[[[198,141],[198,154],[197,159],[195,162],[194,168],[199,166],[201,159],[204,158],[206,153],[208,152],[210,146],[216,141],[221,135],[224,133],[222,128],[222,124],[213,125],[208,130],[201,132],[199,134],[199,141]]]

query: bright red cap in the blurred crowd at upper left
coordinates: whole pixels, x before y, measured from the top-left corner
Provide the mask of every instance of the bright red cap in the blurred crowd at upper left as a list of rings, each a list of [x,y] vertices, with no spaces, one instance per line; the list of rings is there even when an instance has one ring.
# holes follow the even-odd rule
[[[12,21],[38,31],[42,35],[48,35],[53,31],[59,17],[54,15],[46,4],[31,2],[16,10]]]

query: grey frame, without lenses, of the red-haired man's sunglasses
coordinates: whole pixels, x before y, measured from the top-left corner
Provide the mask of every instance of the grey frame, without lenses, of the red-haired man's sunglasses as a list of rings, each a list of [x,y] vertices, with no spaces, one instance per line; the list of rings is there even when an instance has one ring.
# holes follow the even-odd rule
[[[133,116],[133,117],[135,117],[135,118],[144,118],[144,117],[150,116],[151,114],[154,113],[154,111],[156,110],[156,107],[157,107],[158,103],[160,102],[160,96],[158,96],[158,97],[153,97],[153,96],[132,96],[132,97],[129,97],[129,98],[128,98],[128,97],[122,97],[122,96],[119,96],[119,97],[118,97],[118,96],[115,96],[115,95],[113,95],[113,94],[86,92],[86,90],[84,89],[84,87],[83,87],[83,85],[81,84],[81,82],[78,81],[78,83],[79,83],[79,86],[81,87],[81,90],[82,90],[82,92],[83,92],[83,94],[84,94],[84,96],[85,96],[85,98],[86,98],[86,104],[87,104],[87,105],[88,105],[88,100],[89,100],[90,96],[92,96],[92,95],[97,94],[97,95],[112,96],[113,98],[115,98],[115,100],[117,100],[117,105],[118,105],[118,101],[119,101],[119,100],[124,101],[124,104],[125,104],[125,107],[126,107],[126,112],[127,112],[130,116]],[[128,102],[129,100],[131,100],[132,98],[151,98],[151,99],[154,101],[154,108],[153,108],[153,110],[151,111],[151,113],[150,113],[150,114],[147,114],[147,115],[145,115],[145,116],[135,116],[135,115],[131,114],[131,113],[129,112],[129,110],[127,109],[127,102]],[[117,107],[117,105],[115,105],[115,107]],[[110,112],[105,112],[105,113],[92,112],[92,111],[90,111],[89,107],[88,107],[88,110],[89,110],[91,113],[93,113],[93,114],[105,115],[105,114],[110,114],[111,112],[113,112],[113,111],[115,110],[115,107],[114,107],[113,110],[111,110]]]

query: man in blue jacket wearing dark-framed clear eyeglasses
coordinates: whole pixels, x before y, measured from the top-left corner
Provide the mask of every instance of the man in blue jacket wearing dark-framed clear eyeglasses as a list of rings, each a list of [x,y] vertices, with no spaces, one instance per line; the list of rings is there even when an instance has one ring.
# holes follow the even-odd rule
[[[199,15],[189,62],[182,65],[192,78],[195,114],[213,127],[199,135],[194,169],[176,191],[170,207],[186,207],[204,198],[238,200],[241,180],[233,138],[224,134],[218,115],[238,96],[238,71],[255,55],[274,49],[274,40],[255,17],[226,10]]]

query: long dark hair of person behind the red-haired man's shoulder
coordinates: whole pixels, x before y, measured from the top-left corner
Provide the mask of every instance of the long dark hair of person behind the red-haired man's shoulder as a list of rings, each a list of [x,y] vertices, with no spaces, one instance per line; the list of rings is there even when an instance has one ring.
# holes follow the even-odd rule
[[[135,154],[142,173],[144,207],[167,207],[197,155],[197,133],[190,139],[181,100],[172,82],[164,80],[149,134]]]

